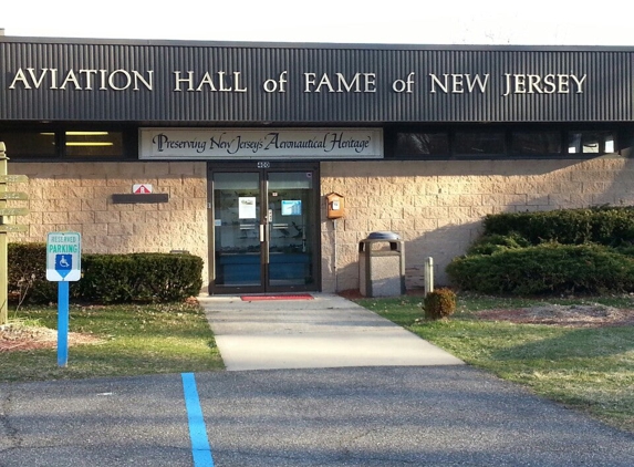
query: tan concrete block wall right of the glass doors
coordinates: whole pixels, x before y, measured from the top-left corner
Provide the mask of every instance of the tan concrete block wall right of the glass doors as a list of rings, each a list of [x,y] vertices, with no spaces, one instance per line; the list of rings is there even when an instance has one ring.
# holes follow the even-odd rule
[[[436,286],[445,268],[481,234],[488,214],[634,205],[634,164],[589,160],[324,162],[322,199],[345,196],[346,217],[325,218],[322,201],[322,289],[358,289],[358,242],[372,231],[405,241],[406,286],[424,287],[434,259]]]

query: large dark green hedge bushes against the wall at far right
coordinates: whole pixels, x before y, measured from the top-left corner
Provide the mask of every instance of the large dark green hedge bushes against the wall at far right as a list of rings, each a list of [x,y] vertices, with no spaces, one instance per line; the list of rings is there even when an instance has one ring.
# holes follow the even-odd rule
[[[634,291],[634,208],[489,215],[447,267],[464,290],[502,294]]]

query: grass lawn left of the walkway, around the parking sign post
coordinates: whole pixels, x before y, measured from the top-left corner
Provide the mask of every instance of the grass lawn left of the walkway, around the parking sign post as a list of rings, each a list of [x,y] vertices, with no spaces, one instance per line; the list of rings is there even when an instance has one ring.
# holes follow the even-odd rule
[[[31,307],[9,312],[9,322],[58,328],[58,310]],[[224,369],[202,310],[185,303],[77,307],[70,332],[97,343],[71,345],[66,367],[56,347],[0,353],[0,382],[44,381]]]

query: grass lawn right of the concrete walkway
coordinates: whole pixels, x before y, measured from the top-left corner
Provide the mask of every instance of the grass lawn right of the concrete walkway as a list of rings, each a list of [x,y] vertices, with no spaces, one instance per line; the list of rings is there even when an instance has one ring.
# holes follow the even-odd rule
[[[478,312],[482,310],[540,301],[469,295],[458,295],[457,311],[448,320],[426,322],[420,320],[422,301],[420,297],[357,300],[470,365],[634,433],[634,326],[564,328],[481,320]],[[630,298],[592,301],[634,308]]]

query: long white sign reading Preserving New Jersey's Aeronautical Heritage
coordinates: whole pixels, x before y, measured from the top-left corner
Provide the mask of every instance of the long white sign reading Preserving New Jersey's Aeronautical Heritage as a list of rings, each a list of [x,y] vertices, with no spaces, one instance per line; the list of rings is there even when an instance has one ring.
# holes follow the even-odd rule
[[[141,159],[383,158],[381,128],[142,128]]]

